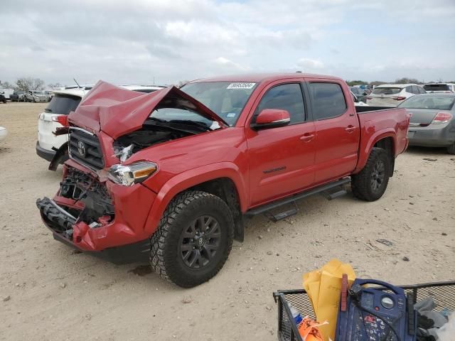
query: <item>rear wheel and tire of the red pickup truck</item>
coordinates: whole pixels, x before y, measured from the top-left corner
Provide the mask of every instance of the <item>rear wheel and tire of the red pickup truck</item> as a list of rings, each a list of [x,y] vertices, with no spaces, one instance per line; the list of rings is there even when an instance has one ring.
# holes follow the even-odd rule
[[[373,148],[360,173],[351,176],[353,195],[360,200],[375,201],[384,194],[390,178],[390,158],[382,148]]]

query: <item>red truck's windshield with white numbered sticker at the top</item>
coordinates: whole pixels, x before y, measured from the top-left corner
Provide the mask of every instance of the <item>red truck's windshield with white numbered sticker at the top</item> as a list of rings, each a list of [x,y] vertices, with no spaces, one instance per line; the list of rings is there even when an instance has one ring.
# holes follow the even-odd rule
[[[200,82],[188,83],[180,90],[233,126],[256,85],[253,82]]]

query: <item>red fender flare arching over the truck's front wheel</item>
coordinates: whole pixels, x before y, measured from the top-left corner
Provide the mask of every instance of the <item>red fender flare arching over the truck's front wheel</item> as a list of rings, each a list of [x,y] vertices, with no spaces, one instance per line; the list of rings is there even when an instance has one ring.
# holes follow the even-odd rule
[[[178,193],[199,185],[200,183],[205,183],[206,181],[215,180],[217,178],[230,178],[230,180],[232,180],[239,195],[240,209],[242,212],[245,212],[247,210],[248,202],[247,193],[245,191],[247,184],[241,175],[240,169],[235,163],[231,162],[212,163],[180,173],[169,179],[161,187],[151,206],[149,217],[147,217],[144,226],[145,232],[151,235],[156,231],[159,220],[163,216],[166,207]],[[146,185],[146,183],[144,185]]]

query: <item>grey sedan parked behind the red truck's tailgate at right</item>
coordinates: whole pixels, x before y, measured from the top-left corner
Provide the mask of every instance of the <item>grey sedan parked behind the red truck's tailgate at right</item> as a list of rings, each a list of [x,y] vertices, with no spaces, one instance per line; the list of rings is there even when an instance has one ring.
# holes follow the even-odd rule
[[[455,154],[455,94],[419,94],[398,107],[412,114],[407,137],[411,146],[446,147]]]

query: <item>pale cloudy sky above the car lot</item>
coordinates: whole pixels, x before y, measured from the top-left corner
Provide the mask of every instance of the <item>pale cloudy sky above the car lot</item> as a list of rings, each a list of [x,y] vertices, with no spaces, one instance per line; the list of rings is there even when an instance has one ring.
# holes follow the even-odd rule
[[[170,84],[295,70],[455,80],[454,18],[453,0],[8,1],[0,80]]]

